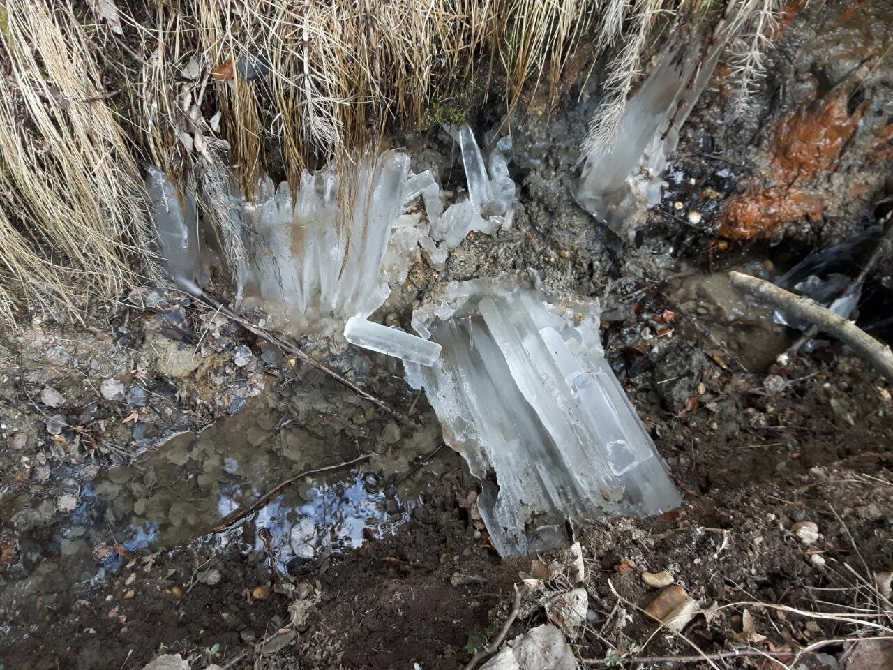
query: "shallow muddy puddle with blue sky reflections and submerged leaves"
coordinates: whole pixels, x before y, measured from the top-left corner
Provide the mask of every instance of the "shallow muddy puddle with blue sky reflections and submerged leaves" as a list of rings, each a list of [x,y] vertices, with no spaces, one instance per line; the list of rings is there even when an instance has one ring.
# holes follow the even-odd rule
[[[236,542],[242,553],[263,552],[264,563],[272,559],[280,574],[297,576],[365,540],[396,532],[421,504],[412,480],[400,473],[437,446],[437,433],[416,431],[389,450],[399,438],[396,425],[384,420],[382,427],[374,413],[367,421],[367,407],[349,394],[333,399],[317,391],[286,398],[291,406],[284,409],[283,398],[268,391],[240,415],[197,434],[179,434],[132,465],[103,471],[66,466],[58,474],[63,488],[74,491],[70,510],[63,509],[64,496],[34,504],[28,495],[0,509],[0,543],[9,557],[15,554],[0,577],[0,632],[9,631],[7,616],[23,602],[64,609],[135,554],[194,541],[220,547]],[[352,420],[338,423],[332,415],[295,410],[320,398],[352,405]],[[379,437],[372,438],[373,432]],[[381,455],[300,478],[229,531],[208,534],[298,473],[373,452]]]

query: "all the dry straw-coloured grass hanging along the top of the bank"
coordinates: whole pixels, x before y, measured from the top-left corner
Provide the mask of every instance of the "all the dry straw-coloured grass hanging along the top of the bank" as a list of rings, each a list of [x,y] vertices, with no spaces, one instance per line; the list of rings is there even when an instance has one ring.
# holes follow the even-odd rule
[[[79,9],[76,9],[78,7]],[[774,0],[4,0],[0,51],[0,314],[71,313],[152,272],[140,163],[198,188],[221,230],[230,181],[251,197],[276,172],[345,170],[388,130],[455,122],[504,78],[559,90],[585,50],[606,72],[588,148],[613,137],[645,55],[734,8],[753,73]],[[748,21],[748,17],[755,17]],[[111,57],[110,54],[116,54]],[[752,79],[752,78],[751,78]],[[745,77],[745,81],[749,81]],[[746,83],[746,87],[749,84]],[[109,90],[109,87],[114,86]]]

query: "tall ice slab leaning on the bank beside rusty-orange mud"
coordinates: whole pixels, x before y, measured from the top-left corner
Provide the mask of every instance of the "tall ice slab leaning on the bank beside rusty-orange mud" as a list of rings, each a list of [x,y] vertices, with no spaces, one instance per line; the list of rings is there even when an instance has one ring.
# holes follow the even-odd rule
[[[613,142],[584,158],[577,202],[623,239],[632,239],[647,210],[660,202],[661,175],[679,132],[706,87],[728,40],[718,29],[706,53],[673,41],[627,101]]]

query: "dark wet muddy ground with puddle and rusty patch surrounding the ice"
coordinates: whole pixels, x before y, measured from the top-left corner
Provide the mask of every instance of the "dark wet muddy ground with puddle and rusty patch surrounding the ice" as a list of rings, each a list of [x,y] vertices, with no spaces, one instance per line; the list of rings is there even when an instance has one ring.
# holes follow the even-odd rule
[[[893,88],[877,53],[889,14],[880,2],[855,7],[864,12],[792,4],[745,113],[718,71],[631,245],[572,197],[597,105],[581,66],[560,112],[508,124],[521,188],[512,229],[470,235],[443,272],[418,258],[378,314],[408,330],[442,283],[529,268],[550,289],[600,300],[606,356],[685,502],[573,529],[589,596],[577,653],[593,665],[692,653],[672,635],[648,641],[654,626],[630,606],[655,595],[646,570],[669,572],[705,607],[877,606],[852,571],[871,581],[893,563],[889,385],[833,342],[777,363],[799,331],[726,276],[777,278],[832,241],[870,245],[886,214]],[[504,121],[494,105],[472,116],[481,135]],[[458,185],[461,157],[442,130],[396,144],[414,170]],[[852,277],[863,258],[839,265]],[[856,315],[866,327],[891,309],[889,264],[879,268]],[[497,557],[478,483],[438,450],[427,401],[384,356],[338,337],[300,344],[412,425],[175,291],[136,289],[110,322],[4,333],[4,668],[139,668],[162,651],[196,668],[455,668],[492,639],[530,560]],[[278,482],[359,458],[205,534]],[[793,530],[807,522],[818,533],[809,544]],[[859,632],[748,607],[778,649]],[[743,608],[699,617],[686,635],[705,652],[728,649],[742,641]],[[512,635],[544,621],[528,607]]]

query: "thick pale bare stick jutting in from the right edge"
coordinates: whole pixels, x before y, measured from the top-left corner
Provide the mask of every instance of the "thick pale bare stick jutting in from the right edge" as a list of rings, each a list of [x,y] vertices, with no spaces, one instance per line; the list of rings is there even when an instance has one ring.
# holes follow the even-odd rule
[[[855,353],[874,365],[888,381],[893,383],[893,352],[887,345],[872,338],[854,322],[848,321],[840,314],[834,314],[812,298],[797,296],[790,291],[780,289],[769,281],[751,277],[742,272],[730,272],[729,277],[736,289],[762,298],[796,319],[816,324],[822,331],[833,335],[852,348]]]

